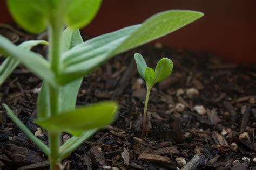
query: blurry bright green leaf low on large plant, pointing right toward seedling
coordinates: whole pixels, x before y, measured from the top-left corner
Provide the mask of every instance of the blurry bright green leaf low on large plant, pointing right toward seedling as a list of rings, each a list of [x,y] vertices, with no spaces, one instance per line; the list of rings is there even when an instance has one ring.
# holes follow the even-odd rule
[[[116,116],[116,102],[100,102],[64,112],[35,122],[50,131],[85,131],[110,124]]]

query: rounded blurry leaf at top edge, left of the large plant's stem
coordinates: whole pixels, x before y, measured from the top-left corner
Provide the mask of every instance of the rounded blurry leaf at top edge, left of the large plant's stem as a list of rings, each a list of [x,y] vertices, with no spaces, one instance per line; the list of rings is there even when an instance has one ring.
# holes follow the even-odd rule
[[[47,23],[44,0],[8,0],[7,5],[12,17],[25,30],[32,33],[44,31]]]

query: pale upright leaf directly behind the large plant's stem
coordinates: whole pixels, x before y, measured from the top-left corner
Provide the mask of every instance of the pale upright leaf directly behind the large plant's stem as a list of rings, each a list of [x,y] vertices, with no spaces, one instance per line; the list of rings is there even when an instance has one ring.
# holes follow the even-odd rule
[[[69,27],[63,32],[63,39],[65,42],[64,51],[68,51],[83,42],[79,29],[70,29]],[[79,77],[79,79],[59,87],[59,112],[70,111],[76,108],[77,94],[82,80],[83,77]],[[45,82],[43,82],[37,98],[38,118],[46,118],[50,116],[49,101],[49,89]]]

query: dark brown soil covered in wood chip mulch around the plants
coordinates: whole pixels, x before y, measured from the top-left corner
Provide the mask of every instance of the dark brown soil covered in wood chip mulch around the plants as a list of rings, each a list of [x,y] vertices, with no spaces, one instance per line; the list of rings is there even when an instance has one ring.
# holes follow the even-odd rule
[[[46,38],[44,33],[29,35],[9,25],[2,25],[0,33],[16,44]],[[45,56],[46,48],[33,51]],[[171,76],[152,89],[146,138],[142,138],[146,89],[134,63],[136,52],[151,67],[162,57],[174,63]],[[46,132],[33,123],[41,83],[18,66],[0,87],[0,99],[47,143]],[[77,105],[116,100],[118,116],[63,165],[65,169],[256,169],[255,84],[255,65],[226,63],[207,52],[156,44],[120,54],[84,77],[77,100]],[[0,114],[0,169],[48,169],[46,156],[12,123],[2,104]],[[62,142],[69,138],[63,134]]]

